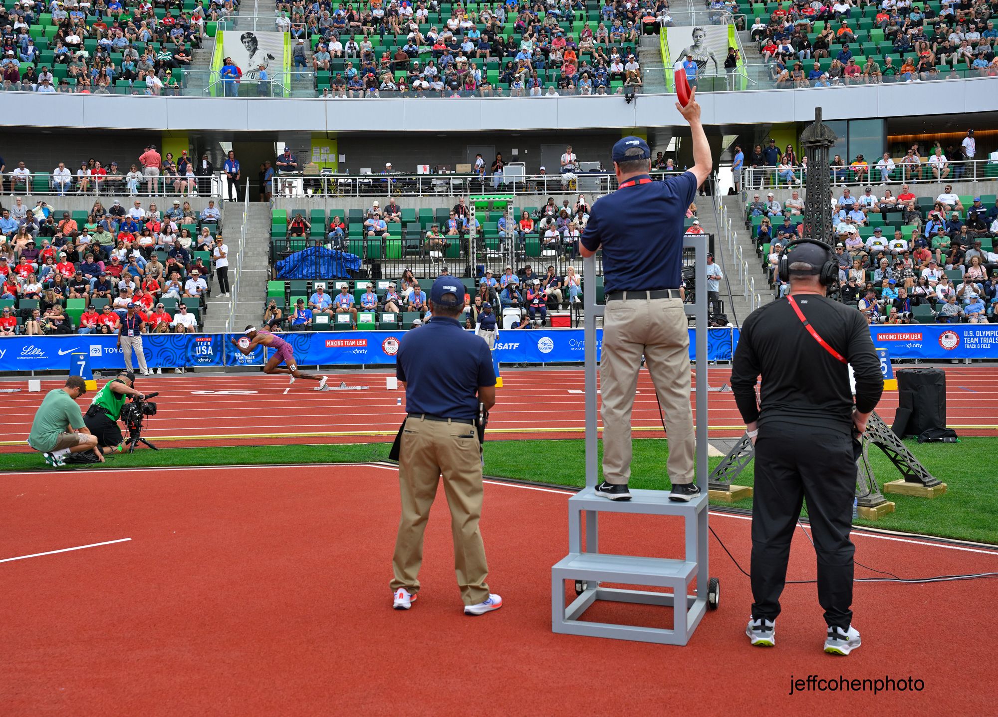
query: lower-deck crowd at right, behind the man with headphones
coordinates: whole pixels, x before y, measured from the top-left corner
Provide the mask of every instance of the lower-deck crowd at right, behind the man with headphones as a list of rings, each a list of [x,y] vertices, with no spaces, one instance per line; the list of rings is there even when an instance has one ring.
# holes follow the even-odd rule
[[[916,196],[903,184],[895,196],[865,187],[831,198],[841,298],[869,324],[986,324],[998,306],[998,197],[959,196],[949,185],[937,196]],[[802,236],[803,201],[793,191],[784,204],[751,194],[748,223],[770,286],[779,253]]]

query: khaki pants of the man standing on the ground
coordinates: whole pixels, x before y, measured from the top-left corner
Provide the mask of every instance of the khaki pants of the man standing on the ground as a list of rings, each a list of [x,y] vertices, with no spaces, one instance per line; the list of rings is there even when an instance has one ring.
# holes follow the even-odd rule
[[[423,532],[441,473],[450,506],[457,584],[464,604],[476,605],[489,597],[489,586],[485,583],[489,568],[478,531],[482,512],[482,463],[475,427],[468,423],[414,417],[405,421],[398,463],[402,517],[391,561],[395,573],[391,589],[404,587],[411,593],[419,592]]]

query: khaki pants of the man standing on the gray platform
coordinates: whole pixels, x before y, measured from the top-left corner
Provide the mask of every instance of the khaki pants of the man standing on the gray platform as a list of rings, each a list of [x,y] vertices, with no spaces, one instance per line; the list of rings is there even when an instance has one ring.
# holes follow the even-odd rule
[[[607,302],[600,359],[603,477],[616,484],[631,478],[631,410],[642,355],[666,419],[669,479],[691,483],[696,440],[690,407],[690,335],[679,299]]]

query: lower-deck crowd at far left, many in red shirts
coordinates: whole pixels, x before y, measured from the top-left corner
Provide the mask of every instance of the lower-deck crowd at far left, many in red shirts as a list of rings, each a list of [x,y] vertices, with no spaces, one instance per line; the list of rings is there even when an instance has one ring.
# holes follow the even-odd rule
[[[0,329],[110,334],[134,303],[151,333],[197,332],[221,242],[214,202],[200,215],[180,200],[60,212],[18,197],[0,207]]]

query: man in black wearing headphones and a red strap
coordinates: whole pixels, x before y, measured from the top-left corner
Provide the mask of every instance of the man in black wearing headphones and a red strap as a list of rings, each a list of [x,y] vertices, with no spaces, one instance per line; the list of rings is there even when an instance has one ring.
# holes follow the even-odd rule
[[[777,272],[789,282],[790,293],[749,315],[732,367],[735,400],[755,446],[754,600],[746,632],[753,645],[775,644],[790,538],[806,498],[818,602],[828,626],[824,651],[847,655],[860,644],[849,609],[856,459],[883,376],[862,315],[825,296],[838,278],[838,262],[827,245],[790,242]]]

